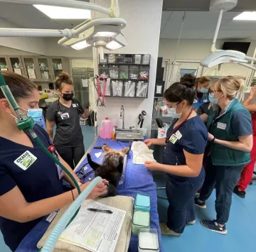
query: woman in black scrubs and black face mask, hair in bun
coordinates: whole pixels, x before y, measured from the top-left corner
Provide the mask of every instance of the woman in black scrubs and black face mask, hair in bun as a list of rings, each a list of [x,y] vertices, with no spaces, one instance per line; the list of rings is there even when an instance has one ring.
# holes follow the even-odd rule
[[[60,96],[46,112],[46,130],[53,141],[53,126],[56,124],[54,145],[60,156],[74,170],[82,156],[85,155],[80,117],[89,116],[78,100],[73,99],[73,80],[63,72],[55,80],[55,87]]]

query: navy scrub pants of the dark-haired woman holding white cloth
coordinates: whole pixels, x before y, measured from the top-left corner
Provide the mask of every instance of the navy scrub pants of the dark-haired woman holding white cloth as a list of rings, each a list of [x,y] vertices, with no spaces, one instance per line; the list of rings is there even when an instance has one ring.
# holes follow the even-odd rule
[[[183,233],[188,222],[196,219],[194,197],[203,185],[204,173],[202,168],[198,177],[167,176],[167,226],[178,234]]]

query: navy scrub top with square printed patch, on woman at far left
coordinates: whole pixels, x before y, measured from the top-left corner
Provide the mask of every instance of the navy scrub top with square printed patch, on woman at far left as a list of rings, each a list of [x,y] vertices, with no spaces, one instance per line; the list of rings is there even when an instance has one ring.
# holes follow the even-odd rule
[[[34,131],[43,144],[50,146],[48,133],[35,125]],[[31,138],[31,136],[27,133]],[[46,153],[33,141],[33,148],[0,137],[0,196],[18,186],[27,202],[36,202],[63,193],[58,170]],[[22,239],[40,219],[18,223],[0,217],[5,243],[15,251]]]

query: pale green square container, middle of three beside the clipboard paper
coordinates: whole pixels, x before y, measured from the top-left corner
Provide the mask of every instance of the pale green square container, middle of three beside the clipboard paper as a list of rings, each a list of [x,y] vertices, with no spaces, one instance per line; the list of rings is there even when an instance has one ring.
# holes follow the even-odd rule
[[[150,212],[135,210],[132,217],[132,234],[139,234],[139,229],[150,227]]]

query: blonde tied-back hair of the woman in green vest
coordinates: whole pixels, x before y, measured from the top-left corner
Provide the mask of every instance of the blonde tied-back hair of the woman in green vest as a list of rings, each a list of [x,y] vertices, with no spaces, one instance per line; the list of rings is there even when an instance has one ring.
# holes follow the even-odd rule
[[[238,92],[244,89],[245,81],[242,79],[237,79],[235,77],[225,77],[218,82],[213,84],[213,88],[217,91],[223,92],[225,97],[229,99],[234,99]]]

